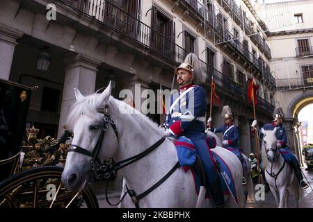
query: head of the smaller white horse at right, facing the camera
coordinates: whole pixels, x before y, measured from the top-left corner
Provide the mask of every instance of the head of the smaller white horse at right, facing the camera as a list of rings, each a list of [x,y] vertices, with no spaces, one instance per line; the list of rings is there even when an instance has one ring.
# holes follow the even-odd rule
[[[261,128],[264,135],[262,140],[262,149],[266,153],[267,160],[271,163],[276,162],[280,155],[277,148],[277,137],[275,135],[276,130],[277,128],[274,130],[264,130],[264,128]]]

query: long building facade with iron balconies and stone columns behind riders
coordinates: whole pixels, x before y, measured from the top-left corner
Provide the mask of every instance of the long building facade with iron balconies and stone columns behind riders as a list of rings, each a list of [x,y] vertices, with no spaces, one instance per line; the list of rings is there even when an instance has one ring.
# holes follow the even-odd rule
[[[230,105],[243,152],[255,152],[248,83],[254,78],[259,86],[257,119],[262,124],[273,112],[275,78],[267,28],[249,0],[0,3],[0,78],[39,86],[28,122],[42,135],[62,135],[74,87],[87,95],[111,80],[115,98],[122,89],[136,91],[137,84],[141,91],[156,92],[160,85],[170,89],[174,68],[193,52],[207,74],[208,98],[212,76],[220,96],[220,105],[213,105],[213,125],[223,124],[221,109]],[[134,103],[143,100],[134,98]],[[157,114],[148,115],[159,122]]]

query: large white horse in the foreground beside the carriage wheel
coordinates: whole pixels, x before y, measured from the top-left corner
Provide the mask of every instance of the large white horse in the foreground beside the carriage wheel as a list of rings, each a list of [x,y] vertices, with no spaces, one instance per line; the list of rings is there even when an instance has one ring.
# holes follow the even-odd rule
[[[103,161],[113,157],[116,162],[120,162],[143,153],[164,136],[156,123],[126,103],[114,99],[111,96],[111,84],[102,94],[85,97],[78,89],[74,91],[77,103],[73,105],[73,110],[67,118],[67,126],[74,133],[72,140],[74,148],[67,154],[62,174],[62,181],[68,189],[83,189],[90,174],[90,160]],[[110,125],[110,120],[108,124],[104,124],[104,120],[108,118],[114,120],[115,124]],[[104,131],[105,133],[102,133]],[[96,147],[99,148],[96,149],[98,153]],[[240,161],[225,148],[214,148],[212,151],[222,157],[230,167],[238,206],[245,207]],[[177,162],[175,145],[170,139],[165,139],[153,151],[120,171],[127,182],[127,187],[140,195],[166,176]],[[191,171],[185,173],[184,169],[179,167],[161,185],[143,196],[139,200],[139,206],[195,207],[197,198]],[[122,206],[134,207],[134,203],[126,199]],[[211,201],[206,199],[204,207],[212,206]],[[231,196],[225,196],[225,207],[236,207]]]

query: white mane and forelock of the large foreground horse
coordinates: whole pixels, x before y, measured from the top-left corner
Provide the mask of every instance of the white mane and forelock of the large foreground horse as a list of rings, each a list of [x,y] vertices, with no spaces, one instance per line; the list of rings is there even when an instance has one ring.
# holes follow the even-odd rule
[[[74,124],[78,121],[79,117],[81,117],[82,114],[87,114],[90,115],[91,117],[96,117],[101,119],[102,114],[96,111],[97,104],[99,103],[99,96],[101,94],[91,94],[89,96],[85,96],[83,99],[77,101],[72,105],[72,110],[70,111],[70,114],[67,116],[67,128],[72,129],[74,127]],[[139,112],[138,110],[132,108],[130,105],[125,103],[124,101],[120,101],[118,99],[113,98],[113,96],[110,96],[109,99],[109,108],[111,107],[110,105],[115,105],[114,110],[118,114],[123,114],[123,115],[129,115],[133,116],[136,114],[136,121],[138,121],[138,124],[143,124],[142,122],[145,123],[145,125],[148,124],[151,128],[159,130],[159,126],[157,123],[154,123],[151,119],[149,119],[147,116]],[[120,113],[122,110],[123,113]],[[141,125],[143,126],[143,125]],[[159,130],[161,133],[161,130]]]

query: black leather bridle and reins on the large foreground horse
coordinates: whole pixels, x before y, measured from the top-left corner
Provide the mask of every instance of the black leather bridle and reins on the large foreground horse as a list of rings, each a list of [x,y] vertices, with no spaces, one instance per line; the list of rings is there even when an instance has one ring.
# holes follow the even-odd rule
[[[89,157],[92,157],[92,160],[90,161],[90,164],[92,165],[91,171],[93,171],[93,173],[95,174],[95,177],[99,180],[100,179],[108,179],[110,176],[110,173],[112,173],[113,171],[116,172],[119,169],[122,169],[123,167],[127,167],[129,164],[132,164],[133,162],[136,162],[137,160],[140,160],[141,158],[145,157],[145,155],[154,151],[154,149],[159,147],[166,139],[166,136],[163,136],[161,139],[159,139],[156,143],[154,143],[152,146],[147,148],[142,153],[139,153],[138,155],[134,155],[133,157],[129,157],[126,160],[122,160],[120,162],[113,163],[113,167],[108,170],[106,165],[104,165],[100,162],[100,160],[98,158],[98,154],[99,154],[100,148],[102,146],[104,133],[106,132],[106,129],[109,128],[109,123],[111,124],[117,139],[119,139],[118,130],[116,128],[115,121],[113,121],[113,119],[111,119],[111,117],[110,117],[108,105],[106,105],[104,107],[104,109],[96,109],[96,110],[97,110],[97,112],[104,114],[104,118],[103,118],[104,121],[102,124],[101,134],[99,136],[99,139],[97,140],[97,144],[96,144],[95,148],[93,149],[93,152],[90,152],[90,151],[86,150],[86,148],[82,148],[81,146],[74,145],[74,144],[71,144],[71,148],[68,149],[68,152],[81,153],[82,155],[87,155]],[[175,164],[175,166],[172,167],[172,169],[166,174],[166,176],[163,176],[163,178],[161,178],[161,180],[159,180],[157,183],[152,185],[152,187],[150,187],[149,189],[144,191],[142,194],[139,194],[138,196],[136,195],[134,190],[128,189],[128,187],[127,187],[127,191],[122,196],[120,201],[114,205],[109,202],[109,198],[107,195],[109,182],[107,182],[106,183],[106,202],[112,206],[118,205],[125,198],[126,194],[129,194],[129,196],[131,196],[131,200],[134,202],[134,204],[138,208],[139,207],[138,201],[141,198],[143,198],[144,196],[147,196],[147,194],[150,194],[150,192],[152,192],[154,189],[159,187],[159,185],[161,185],[167,178],[169,178],[170,175],[172,175],[172,173],[174,173],[174,171],[178,167],[179,167],[179,162],[177,162]]]

